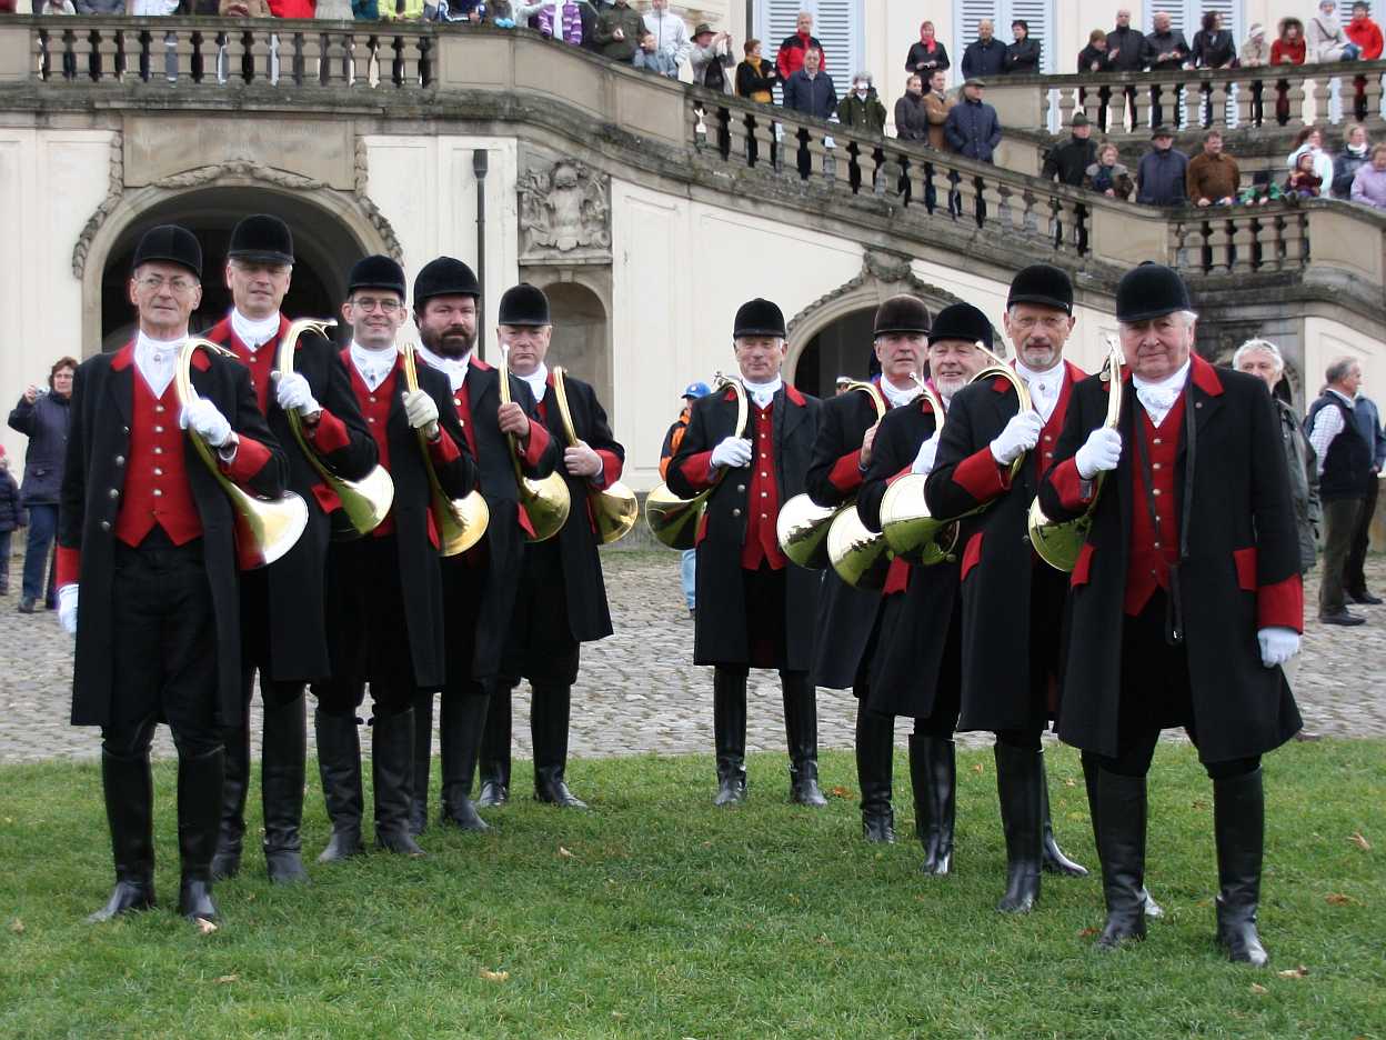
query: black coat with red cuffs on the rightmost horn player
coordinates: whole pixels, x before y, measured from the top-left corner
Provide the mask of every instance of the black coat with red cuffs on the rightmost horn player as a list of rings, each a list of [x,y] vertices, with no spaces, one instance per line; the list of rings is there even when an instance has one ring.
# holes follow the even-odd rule
[[[1258,589],[1299,581],[1299,538],[1289,470],[1279,449],[1279,423],[1265,385],[1254,376],[1214,370],[1202,359],[1185,387],[1193,409],[1192,496],[1185,502],[1189,445],[1179,431],[1175,516],[1188,517],[1181,541],[1189,556],[1179,569],[1182,624],[1199,754],[1204,761],[1243,759],[1288,740],[1300,728],[1285,674],[1261,664],[1256,632]],[[1063,508],[1051,477],[1102,424],[1107,384],[1078,384],[1055,465],[1041,488],[1052,520]],[[1132,478],[1139,456],[1132,440],[1142,406],[1130,379],[1121,402],[1121,462],[1109,473],[1094,510],[1092,530],[1074,567],[1069,661],[1059,736],[1084,750],[1117,753],[1121,630],[1131,544]],[[1161,427],[1163,428],[1163,427]]]

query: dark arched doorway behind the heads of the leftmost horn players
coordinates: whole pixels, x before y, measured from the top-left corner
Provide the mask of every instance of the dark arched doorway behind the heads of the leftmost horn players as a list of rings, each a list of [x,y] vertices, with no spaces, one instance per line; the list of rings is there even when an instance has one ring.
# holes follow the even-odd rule
[[[101,272],[101,348],[118,349],[134,330],[126,290],[140,236],[161,223],[177,223],[202,244],[202,304],[188,323],[208,329],[231,306],[222,269],[231,229],[247,214],[273,214],[294,232],[294,280],[284,298],[291,316],[335,316],[351,265],[367,251],[351,229],[306,198],[254,186],[218,186],[165,198],[140,212],[115,240]]]

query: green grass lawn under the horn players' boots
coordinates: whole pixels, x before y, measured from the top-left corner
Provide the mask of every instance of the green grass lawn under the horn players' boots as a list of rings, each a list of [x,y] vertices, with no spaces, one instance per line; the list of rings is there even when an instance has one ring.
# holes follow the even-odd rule
[[[778,754],[753,759],[739,810],[711,807],[710,756],[582,761],[570,778],[590,814],[520,797],[489,813],[489,835],[434,826],[428,858],[315,865],[306,889],[272,889],[249,854],[205,936],[166,908],[170,764],[157,770],[165,908],[103,926],[82,919],[111,882],[97,770],[4,767],[0,1036],[1386,1036],[1386,742],[1268,760],[1268,971],[1214,947],[1211,789],[1189,750],[1156,761],[1146,876],[1168,914],[1109,957],[1089,948],[1096,876],[1046,878],[1028,917],[994,912],[990,753],[962,756],[945,879],[918,874],[897,765],[902,840],[869,847],[845,753],[825,757],[837,797],[819,811],[786,803]],[[1052,753],[1049,770],[1060,840],[1095,875],[1077,756]],[[315,779],[312,853],[326,832]]]

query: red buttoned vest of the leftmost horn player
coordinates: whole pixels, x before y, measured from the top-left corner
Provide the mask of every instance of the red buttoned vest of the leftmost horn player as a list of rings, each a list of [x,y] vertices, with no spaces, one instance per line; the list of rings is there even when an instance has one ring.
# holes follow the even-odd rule
[[[173,545],[187,545],[202,535],[202,517],[187,483],[173,383],[155,398],[136,369],[132,405],[130,455],[115,537],[137,546],[158,526]]]

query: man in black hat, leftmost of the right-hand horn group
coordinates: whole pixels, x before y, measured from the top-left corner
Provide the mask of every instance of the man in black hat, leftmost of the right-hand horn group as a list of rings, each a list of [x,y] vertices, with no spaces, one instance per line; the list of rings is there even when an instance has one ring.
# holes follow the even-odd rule
[[[780,503],[805,491],[818,398],[780,379],[784,315],[769,300],[736,312],[736,363],[748,428],[736,428],[736,391],[694,402],[687,434],[669,465],[682,498],[711,488],[697,530],[697,617],[693,663],[714,666],[715,804],[746,799],[746,681],[778,668],[784,695],[790,799],[826,804],[818,789],[818,700],[808,670],[816,571],[789,566],[775,535]]]

